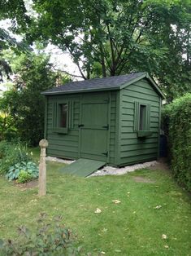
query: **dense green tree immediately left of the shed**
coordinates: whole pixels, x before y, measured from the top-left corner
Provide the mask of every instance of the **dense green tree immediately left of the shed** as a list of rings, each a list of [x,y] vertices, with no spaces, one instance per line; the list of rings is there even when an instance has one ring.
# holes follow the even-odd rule
[[[59,75],[51,70],[46,55],[32,53],[18,57],[11,52],[10,58],[16,74],[14,87],[0,99],[1,110],[14,124],[17,136],[35,146],[43,138],[44,130],[45,99],[41,91],[54,86]]]

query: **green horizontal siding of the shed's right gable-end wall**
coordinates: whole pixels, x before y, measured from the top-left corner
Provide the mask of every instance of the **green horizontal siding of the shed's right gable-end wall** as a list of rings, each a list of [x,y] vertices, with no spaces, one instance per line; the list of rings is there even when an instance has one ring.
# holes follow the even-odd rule
[[[146,79],[135,82],[122,90],[120,111],[120,166],[150,161],[158,154],[159,96]],[[153,135],[137,138],[134,131],[135,102],[150,104],[150,130]]]

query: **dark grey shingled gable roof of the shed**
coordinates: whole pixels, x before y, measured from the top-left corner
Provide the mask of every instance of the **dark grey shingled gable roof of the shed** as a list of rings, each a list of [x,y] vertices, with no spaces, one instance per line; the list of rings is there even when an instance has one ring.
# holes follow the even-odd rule
[[[85,81],[68,82],[63,86],[57,86],[50,90],[43,91],[43,95],[63,95],[69,93],[88,92],[88,91],[99,91],[99,90],[120,90],[125,86],[137,82],[138,80],[146,77],[150,80],[155,90],[163,98],[163,92],[158,88],[154,80],[149,76],[148,73],[131,73],[128,75],[115,76],[115,77],[104,77],[94,78]]]

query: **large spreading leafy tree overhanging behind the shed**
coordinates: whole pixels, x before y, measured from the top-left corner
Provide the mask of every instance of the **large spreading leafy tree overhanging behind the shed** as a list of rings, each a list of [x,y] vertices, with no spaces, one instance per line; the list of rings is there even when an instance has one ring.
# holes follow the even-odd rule
[[[15,31],[68,51],[84,79],[147,71],[169,99],[190,90],[189,0],[33,0],[32,7],[36,14],[27,25],[17,20]]]

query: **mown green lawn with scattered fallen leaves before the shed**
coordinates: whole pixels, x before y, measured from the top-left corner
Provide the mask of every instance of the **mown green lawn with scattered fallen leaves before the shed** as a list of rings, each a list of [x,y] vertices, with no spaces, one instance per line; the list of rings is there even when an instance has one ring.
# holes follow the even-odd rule
[[[93,255],[191,255],[190,198],[167,171],[82,179],[60,174],[60,166],[48,162],[47,196],[41,198],[37,188],[24,190],[0,179],[0,237],[16,236],[21,224],[33,228],[38,214],[46,212],[50,218],[63,215],[79,244]],[[134,176],[154,183],[138,183]],[[156,210],[157,205],[162,207]],[[97,208],[102,213],[95,214]]]

